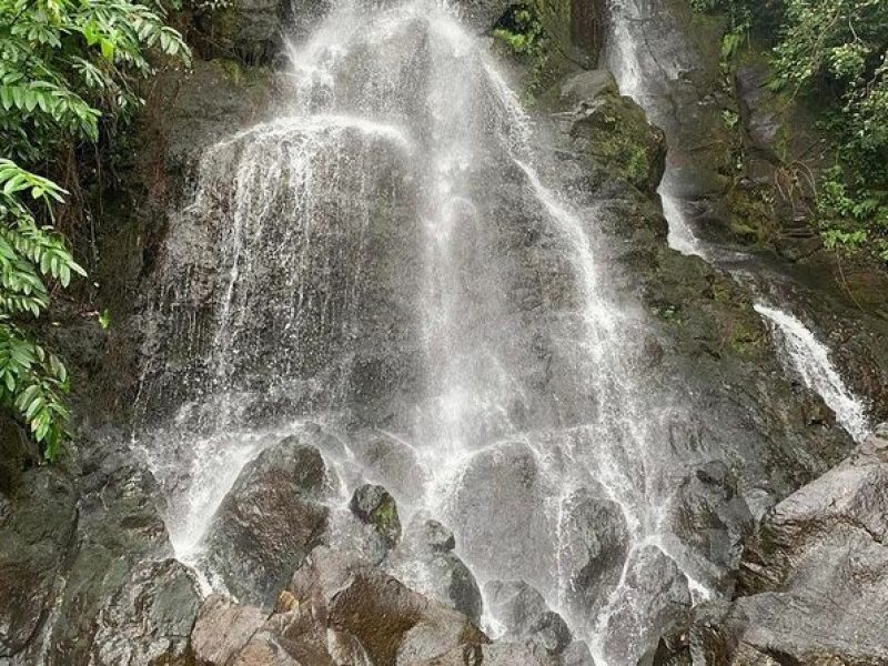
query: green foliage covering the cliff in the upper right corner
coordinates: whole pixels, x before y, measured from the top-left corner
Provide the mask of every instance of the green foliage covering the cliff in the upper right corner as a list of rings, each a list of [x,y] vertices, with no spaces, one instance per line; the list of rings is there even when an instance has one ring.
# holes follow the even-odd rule
[[[816,185],[828,248],[888,261],[888,2],[885,0],[693,0],[730,17],[725,57],[743,20],[774,43],[771,87],[820,109],[835,165]],[[761,7],[764,4],[764,8]],[[738,22],[739,21],[739,22]]]

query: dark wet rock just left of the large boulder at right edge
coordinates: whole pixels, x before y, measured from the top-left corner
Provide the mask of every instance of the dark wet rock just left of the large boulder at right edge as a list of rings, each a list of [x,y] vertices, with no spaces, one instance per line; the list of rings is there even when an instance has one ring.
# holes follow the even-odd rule
[[[690,472],[679,484],[670,511],[676,535],[707,563],[715,565],[713,585],[729,592],[743,539],[753,529],[753,515],[737,493],[737,481],[727,465],[713,461]],[[712,567],[706,566],[705,571]]]

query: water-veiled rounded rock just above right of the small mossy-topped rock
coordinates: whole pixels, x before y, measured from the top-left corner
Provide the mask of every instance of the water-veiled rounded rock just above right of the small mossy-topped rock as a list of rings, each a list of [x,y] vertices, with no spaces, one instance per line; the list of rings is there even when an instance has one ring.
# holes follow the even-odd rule
[[[425,472],[407,444],[372,433],[355,437],[352,448],[371,481],[384,485],[395,497],[410,502],[422,495]]]

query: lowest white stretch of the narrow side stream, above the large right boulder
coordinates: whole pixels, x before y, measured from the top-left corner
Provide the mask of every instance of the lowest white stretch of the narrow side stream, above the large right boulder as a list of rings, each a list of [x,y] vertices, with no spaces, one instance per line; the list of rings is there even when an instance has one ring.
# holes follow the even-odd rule
[[[855,441],[862,442],[872,431],[866,407],[836,371],[827,346],[796,316],[764,303],[756,303],[755,307],[770,322],[789,362],[788,370],[798,374],[808,389],[819,393],[836,413],[839,424]]]

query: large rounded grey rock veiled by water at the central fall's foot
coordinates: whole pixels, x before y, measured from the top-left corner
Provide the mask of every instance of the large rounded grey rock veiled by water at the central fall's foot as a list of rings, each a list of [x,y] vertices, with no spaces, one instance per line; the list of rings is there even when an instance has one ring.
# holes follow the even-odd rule
[[[547,587],[555,569],[547,492],[526,444],[497,444],[468,462],[453,497],[450,519],[463,535],[461,548],[480,577],[509,572]]]

